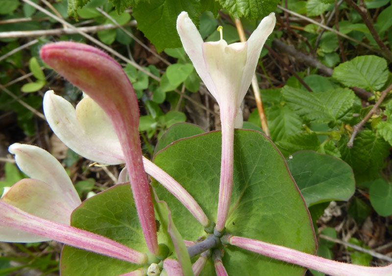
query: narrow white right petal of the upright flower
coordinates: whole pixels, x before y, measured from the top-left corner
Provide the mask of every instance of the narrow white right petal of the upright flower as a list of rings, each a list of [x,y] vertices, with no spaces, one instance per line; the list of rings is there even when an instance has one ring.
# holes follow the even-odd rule
[[[240,86],[241,95],[239,95],[239,101],[242,101],[242,99],[244,99],[245,97],[245,94],[249,88],[250,82],[252,81],[254,72],[256,70],[256,65],[259,61],[261,49],[263,48],[268,36],[273,31],[275,21],[275,13],[271,12],[269,16],[263,18],[263,20],[253,31],[247,41],[247,57],[244,75]]]

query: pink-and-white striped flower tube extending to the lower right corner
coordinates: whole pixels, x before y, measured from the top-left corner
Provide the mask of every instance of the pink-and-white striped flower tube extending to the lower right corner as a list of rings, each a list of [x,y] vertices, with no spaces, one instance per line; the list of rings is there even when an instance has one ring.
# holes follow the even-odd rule
[[[224,235],[221,238],[224,244],[230,244],[265,255],[277,260],[296,264],[305,268],[314,269],[328,275],[344,276],[391,276],[392,265],[386,267],[365,267],[347,263],[341,263],[307,254],[301,251],[290,249],[283,246],[273,245],[270,243],[242,238],[231,235]]]

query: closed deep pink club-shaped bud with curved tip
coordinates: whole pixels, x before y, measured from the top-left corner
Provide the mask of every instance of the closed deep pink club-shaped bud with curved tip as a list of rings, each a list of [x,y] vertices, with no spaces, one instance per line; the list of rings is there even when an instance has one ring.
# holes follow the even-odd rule
[[[140,147],[138,101],[128,77],[109,55],[88,45],[58,42],[45,45],[40,54],[50,67],[96,101],[112,120],[148,250],[158,255],[155,214]]]

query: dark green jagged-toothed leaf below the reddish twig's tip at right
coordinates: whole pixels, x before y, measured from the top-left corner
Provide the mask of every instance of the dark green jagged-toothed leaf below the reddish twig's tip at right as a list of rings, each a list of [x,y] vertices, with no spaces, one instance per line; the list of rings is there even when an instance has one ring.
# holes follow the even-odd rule
[[[389,144],[368,129],[358,133],[351,149],[347,147],[348,139],[343,136],[338,148],[343,161],[353,169],[357,183],[378,178],[384,159],[389,155]]]

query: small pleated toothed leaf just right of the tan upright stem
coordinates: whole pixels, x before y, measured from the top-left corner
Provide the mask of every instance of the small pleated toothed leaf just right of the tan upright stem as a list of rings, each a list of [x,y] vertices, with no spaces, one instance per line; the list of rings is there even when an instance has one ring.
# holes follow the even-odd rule
[[[266,108],[266,116],[273,141],[285,140],[301,131],[301,119],[287,106],[274,105]]]

